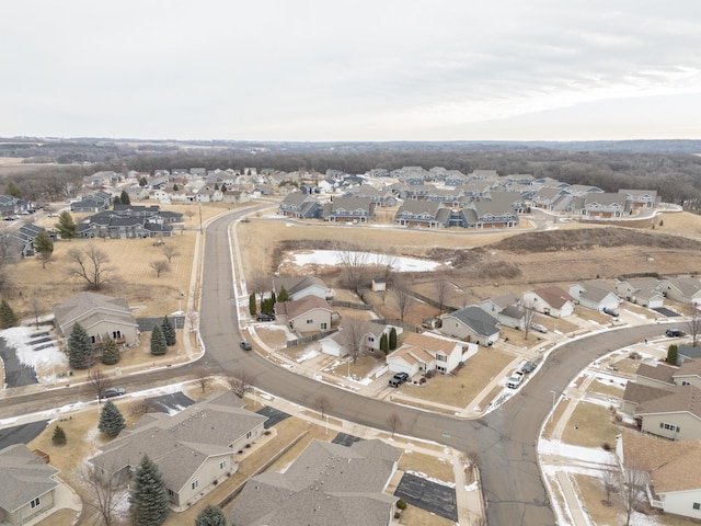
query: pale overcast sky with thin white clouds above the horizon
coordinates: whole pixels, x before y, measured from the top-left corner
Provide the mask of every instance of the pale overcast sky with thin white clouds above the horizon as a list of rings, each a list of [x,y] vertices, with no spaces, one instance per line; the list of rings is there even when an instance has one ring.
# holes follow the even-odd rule
[[[22,0],[0,136],[701,139],[698,0]]]

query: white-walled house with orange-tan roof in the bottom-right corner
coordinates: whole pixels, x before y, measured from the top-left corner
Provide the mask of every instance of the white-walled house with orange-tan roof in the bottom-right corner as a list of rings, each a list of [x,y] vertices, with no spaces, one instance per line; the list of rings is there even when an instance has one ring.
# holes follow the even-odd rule
[[[642,482],[652,507],[701,519],[701,441],[669,443],[623,433],[616,451],[624,479]]]

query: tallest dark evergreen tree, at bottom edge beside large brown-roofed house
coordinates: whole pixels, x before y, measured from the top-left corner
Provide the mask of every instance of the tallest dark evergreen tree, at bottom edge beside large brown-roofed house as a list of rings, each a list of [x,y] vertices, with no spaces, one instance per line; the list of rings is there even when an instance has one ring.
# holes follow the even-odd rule
[[[135,526],[160,526],[168,516],[168,490],[158,466],[143,455],[131,479],[129,495]]]

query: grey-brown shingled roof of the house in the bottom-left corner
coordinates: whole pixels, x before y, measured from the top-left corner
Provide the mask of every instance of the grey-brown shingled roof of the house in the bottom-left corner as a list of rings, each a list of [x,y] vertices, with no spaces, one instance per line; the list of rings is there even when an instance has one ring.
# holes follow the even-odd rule
[[[44,462],[24,444],[0,450],[0,508],[12,513],[58,485],[59,470]]]

